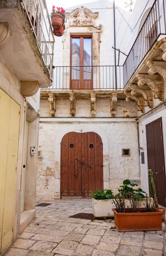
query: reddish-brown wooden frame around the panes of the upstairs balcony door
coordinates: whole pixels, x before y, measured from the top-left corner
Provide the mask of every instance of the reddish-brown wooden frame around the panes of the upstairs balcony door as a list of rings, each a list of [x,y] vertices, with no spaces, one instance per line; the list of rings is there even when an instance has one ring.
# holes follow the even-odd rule
[[[72,39],[80,38],[80,77],[79,79],[72,79]],[[84,85],[84,38],[91,38],[91,79],[86,79],[86,86]],[[87,66],[88,67],[88,66]],[[79,86],[77,85],[77,80]],[[76,84],[76,88],[73,86],[73,82]],[[89,88],[87,87],[87,83],[89,84]],[[78,88],[77,88],[78,87]],[[70,36],[70,89],[76,90],[88,90],[93,89],[93,35],[71,35]]]

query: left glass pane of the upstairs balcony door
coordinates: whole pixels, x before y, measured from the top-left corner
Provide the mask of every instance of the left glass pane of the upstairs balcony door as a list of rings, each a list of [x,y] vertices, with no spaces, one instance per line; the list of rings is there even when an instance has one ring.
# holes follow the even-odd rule
[[[72,79],[79,79],[80,38],[72,38]]]

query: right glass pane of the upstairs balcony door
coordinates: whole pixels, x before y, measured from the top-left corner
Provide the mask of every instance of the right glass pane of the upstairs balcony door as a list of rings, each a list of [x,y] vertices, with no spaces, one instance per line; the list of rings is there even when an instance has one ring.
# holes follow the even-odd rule
[[[92,38],[84,38],[84,79],[91,79],[92,73]]]

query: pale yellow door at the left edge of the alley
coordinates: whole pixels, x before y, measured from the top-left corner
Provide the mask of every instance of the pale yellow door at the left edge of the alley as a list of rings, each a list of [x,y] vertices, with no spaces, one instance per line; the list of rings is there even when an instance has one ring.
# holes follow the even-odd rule
[[[17,154],[18,154],[18,140],[19,140],[19,126],[20,126],[20,106],[11,99],[6,93],[0,90],[0,95],[2,102],[7,100],[10,109],[8,109],[7,116],[2,116],[0,119],[0,124],[6,122],[6,131],[3,137],[3,141],[6,143],[3,168],[1,173],[3,173],[3,202],[1,202],[1,207],[3,209],[2,218],[2,241],[1,241],[1,252],[6,249],[8,244],[13,239],[13,223],[14,223],[14,206],[15,206],[15,189],[16,189],[16,177],[17,177]],[[9,102],[10,101],[10,102]],[[4,105],[3,105],[4,110]],[[6,118],[7,117],[7,118]],[[1,126],[2,129],[2,126]],[[0,129],[0,130],[1,130]],[[2,131],[2,130],[1,130]],[[4,132],[4,131],[3,131]],[[1,134],[1,133],[0,133]],[[1,134],[3,136],[3,134]],[[2,151],[3,151],[2,147]],[[1,159],[2,160],[2,159]],[[5,176],[5,177],[4,177]],[[2,215],[2,214],[1,214]]]

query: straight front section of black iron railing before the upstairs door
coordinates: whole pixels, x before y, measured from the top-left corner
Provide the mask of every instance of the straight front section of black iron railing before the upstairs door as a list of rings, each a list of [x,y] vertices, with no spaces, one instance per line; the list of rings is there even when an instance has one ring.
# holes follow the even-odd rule
[[[115,86],[115,68],[118,80],[117,88]],[[122,66],[55,67],[53,79],[53,85],[49,90],[122,90],[124,88]]]

